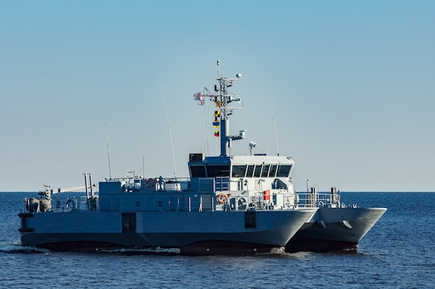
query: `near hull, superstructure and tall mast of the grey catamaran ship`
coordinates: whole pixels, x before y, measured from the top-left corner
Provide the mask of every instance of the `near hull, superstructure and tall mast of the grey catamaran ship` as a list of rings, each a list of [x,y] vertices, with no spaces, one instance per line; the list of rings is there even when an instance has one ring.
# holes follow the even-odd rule
[[[291,157],[231,155],[229,116],[240,98],[228,87],[240,79],[217,75],[213,93],[195,94],[215,106],[220,155],[189,155],[190,177],[139,177],[134,172],[99,182],[85,174],[85,196],[63,198],[70,189],[40,191],[25,200],[19,232],[23,245],[54,251],[175,248],[179,254],[269,254],[284,246],[317,208],[299,208]],[[254,148],[255,143],[249,143]],[[252,150],[250,150],[252,152]]]

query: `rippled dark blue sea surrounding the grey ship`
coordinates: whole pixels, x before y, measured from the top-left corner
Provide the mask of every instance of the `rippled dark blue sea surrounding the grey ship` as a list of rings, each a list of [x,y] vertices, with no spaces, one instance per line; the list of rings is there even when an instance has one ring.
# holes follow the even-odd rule
[[[81,254],[20,245],[35,193],[0,193],[0,288],[434,288],[435,193],[341,193],[388,211],[357,253],[263,256]]]

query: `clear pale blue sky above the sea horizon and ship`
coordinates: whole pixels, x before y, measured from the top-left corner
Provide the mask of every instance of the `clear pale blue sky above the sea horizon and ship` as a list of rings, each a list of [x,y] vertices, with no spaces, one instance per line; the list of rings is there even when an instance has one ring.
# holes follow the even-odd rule
[[[297,191],[435,191],[435,1],[0,1],[0,191],[216,155],[192,94],[242,73],[233,144],[296,161]],[[204,122],[208,125],[204,130]],[[142,175],[142,173],[141,173]]]

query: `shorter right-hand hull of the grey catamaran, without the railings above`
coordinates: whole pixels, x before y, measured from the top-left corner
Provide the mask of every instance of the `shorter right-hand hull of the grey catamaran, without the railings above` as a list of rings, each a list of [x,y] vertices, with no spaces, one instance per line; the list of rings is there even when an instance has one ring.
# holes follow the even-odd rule
[[[356,250],[384,208],[321,207],[286,244],[286,252]]]

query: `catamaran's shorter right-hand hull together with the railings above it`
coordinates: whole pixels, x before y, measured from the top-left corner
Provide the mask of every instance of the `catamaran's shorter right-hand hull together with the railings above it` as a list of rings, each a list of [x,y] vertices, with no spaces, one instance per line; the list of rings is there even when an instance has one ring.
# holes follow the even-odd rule
[[[315,187],[299,193],[299,207],[318,211],[287,243],[286,252],[356,251],[361,238],[386,211],[344,204],[336,188],[331,188],[330,193],[319,193]]]

